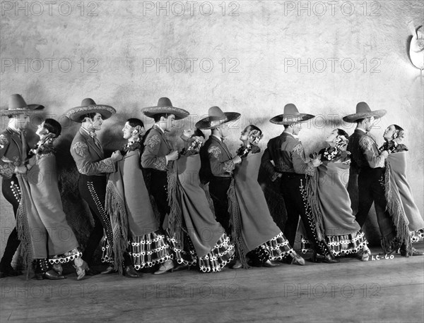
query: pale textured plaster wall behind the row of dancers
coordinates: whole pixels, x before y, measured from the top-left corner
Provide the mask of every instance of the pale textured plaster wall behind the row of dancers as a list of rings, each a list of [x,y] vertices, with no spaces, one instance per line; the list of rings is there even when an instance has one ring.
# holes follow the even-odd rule
[[[365,101],[388,111],[373,131],[379,142],[391,123],[407,130],[423,212],[424,80],[408,58],[408,25],[423,21],[422,1],[1,1],[0,102],[20,93],[44,104],[64,126],[66,153],[77,127],[61,115],[84,97],[118,111],[100,132],[110,150],[125,119],[163,96],[192,113],[180,129],[213,105],[239,111],[233,150],[249,123],[264,130],[264,147],[282,130],[269,118],[293,102],[318,116],[300,134],[308,152],[336,126],[352,133],[341,116]],[[1,252],[11,227],[1,196]]]

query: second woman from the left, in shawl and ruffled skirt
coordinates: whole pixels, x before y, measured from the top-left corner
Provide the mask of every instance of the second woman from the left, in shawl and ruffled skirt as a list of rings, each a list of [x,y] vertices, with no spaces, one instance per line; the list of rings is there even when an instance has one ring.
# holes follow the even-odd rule
[[[109,174],[105,203],[112,222],[114,267],[120,274],[122,266],[118,264],[124,261],[126,252],[135,269],[172,262],[170,245],[159,231],[141,171],[141,140],[146,133],[143,121],[129,118],[122,132],[128,142],[121,150],[124,158],[117,162],[116,171]],[[103,258],[112,256],[111,249],[103,248]]]

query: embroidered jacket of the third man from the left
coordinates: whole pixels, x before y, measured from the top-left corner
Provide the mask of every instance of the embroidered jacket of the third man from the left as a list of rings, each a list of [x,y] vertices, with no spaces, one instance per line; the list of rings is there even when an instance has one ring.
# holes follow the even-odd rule
[[[144,140],[144,152],[141,155],[141,166],[145,169],[156,169],[166,171],[165,156],[172,151],[171,146],[165,138],[165,133],[157,125],[149,130]]]

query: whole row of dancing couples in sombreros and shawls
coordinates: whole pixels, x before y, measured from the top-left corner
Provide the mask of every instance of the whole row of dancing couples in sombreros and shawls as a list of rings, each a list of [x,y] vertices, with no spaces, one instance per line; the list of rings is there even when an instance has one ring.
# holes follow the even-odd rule
[[[424,221],[406,178],[406,132],[388,126],[379,147],[370,130],[386,111],[372,111],[365,102],[357,104],[355,114],[343,117],[356,123],[352,135],[334,129],[326,147],[307,158],[298,135],[302,123],[314,116],[300,113],[294,104],[271,118],[282,132],[269,140],[264,152],[258,146],[263,133],[254,125],[242,130],[242,143],[231,152],[225,144],[228,124],[240,114],[218,106],[208,109],[195,128],[184,130],[184,149],[178,152],[167,133],[189,112],[162,97],[156,106],[141,109],[153,118],[153,127],[146,131],[143,121],[129,118],[122,125],[126,145],[106,157],[98,131],[116,110],[83,99],[66,116],[81,123],[70,152],[81,200],[94,219],[85,245],[67,223],[59,193],[54,141],[61,135],[60,123],[46,118],[35,133],[37,145],[28,145],[30,116],[42,109],[11,95],[0,111],[8,117],[0,134],[1,191],[16,218],[1,258],[1,277],[22,274],[11,266],[19,245],[28,275],[33,269],[36,279],[66,278],[61,266],[66,262],[73,262],[78,280],[116,272],[140,278],[139,269],[149,268],[165,274],[189,267],[220,272],[225,266],[305,265],[293,250],[299,219],[302,252],[311,251],[312,262],[331,264],[349,254],[367,261],[371,252],[361,228],[373,202],[383,252],[423,255],[413,248],[424,238]],[[211,130],[207,140],[206,130]],[[260,167],[270,181],[279,178],[287,214],[283,231],[259,185]],[[356,213],[343,182],[346,171],[358,174]],[[107,269],[99,273],[93,262],[100,243]]]

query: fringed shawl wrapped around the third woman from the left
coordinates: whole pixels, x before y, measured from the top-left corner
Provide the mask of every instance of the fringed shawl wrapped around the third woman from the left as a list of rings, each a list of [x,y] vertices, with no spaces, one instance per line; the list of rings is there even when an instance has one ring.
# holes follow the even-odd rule
[[[223,227],[216,221],[205,191],[200,186],[200,155],[180,157],[168,166],[168,202],[170,215],[168,230],[183,243],[188,234],[196,255],[204,257],[223,235]],[[181,246],[184,249],[184,245]]]

